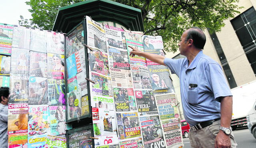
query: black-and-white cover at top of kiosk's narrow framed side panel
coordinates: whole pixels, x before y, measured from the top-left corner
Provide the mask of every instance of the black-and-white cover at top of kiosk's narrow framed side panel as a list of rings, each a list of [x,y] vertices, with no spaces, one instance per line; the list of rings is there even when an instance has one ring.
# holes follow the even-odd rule
[[[84,30],[80,24],[74,31],[66,37],[66,57],[74,54],[80,49],[84,49]]]

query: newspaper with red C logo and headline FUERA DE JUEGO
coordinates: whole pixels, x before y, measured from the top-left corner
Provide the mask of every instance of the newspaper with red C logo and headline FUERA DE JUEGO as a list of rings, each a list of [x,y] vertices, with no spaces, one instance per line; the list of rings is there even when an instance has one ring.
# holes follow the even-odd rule
[[[138,112],[141,115],[158,114],[152,90],[135,91]]]

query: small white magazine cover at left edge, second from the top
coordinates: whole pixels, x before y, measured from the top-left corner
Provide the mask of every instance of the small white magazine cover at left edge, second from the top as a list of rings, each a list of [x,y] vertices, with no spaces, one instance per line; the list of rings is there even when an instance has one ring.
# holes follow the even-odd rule
[[[0,75],[10,75],[11,57],[0,56]]]

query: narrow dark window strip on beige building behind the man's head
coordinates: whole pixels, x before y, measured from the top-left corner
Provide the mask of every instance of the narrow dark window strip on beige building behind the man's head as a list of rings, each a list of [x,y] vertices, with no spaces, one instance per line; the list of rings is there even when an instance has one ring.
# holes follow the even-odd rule
[[[209,32],[209,34],[210,34],[210,32]],[[220,59],[220,63],[222,65],[222,68],[224,70],[224,73],[226,75],[226,78],[228,80],[228,84],[229,84],[230,88],[232,89],[234,87],[237,87],[236,81],[233,77],[232,71],[230,70],[230,67],[228,65],[228,61],[227,61],[226,56],[225,56],[225,54],[222,50],[222,47],[220,45],[220,41],[219,41],[218,37],[216,36],[215,33],[210,34],[210,37],[212,39],[212,43],[213,43],[213,45],[215,47],[215,50],[218,54],[218,57]]]

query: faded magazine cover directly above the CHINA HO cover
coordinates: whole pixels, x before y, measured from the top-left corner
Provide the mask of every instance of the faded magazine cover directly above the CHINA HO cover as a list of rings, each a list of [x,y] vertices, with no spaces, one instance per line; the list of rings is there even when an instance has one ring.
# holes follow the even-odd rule
[[[10,76],[9,103],[28,103],[29,77]]]

